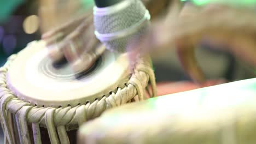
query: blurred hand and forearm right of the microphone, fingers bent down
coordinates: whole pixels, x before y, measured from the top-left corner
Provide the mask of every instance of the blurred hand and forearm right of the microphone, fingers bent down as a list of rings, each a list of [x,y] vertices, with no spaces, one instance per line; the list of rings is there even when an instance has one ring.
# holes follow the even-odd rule
[[[137,53],[155,55],[175,46],[184,70],[195,82],[203,83],[205,77],[197,65],[194,50],[207,39],[256,66],[256,21],[252,9],[217,4],[204,7],[186,4],[178,8],[179,4],[173,3],[167,15],[153,23],[143,40],[133,41],[129,46],[135,50],[130,53],[131,63]]]

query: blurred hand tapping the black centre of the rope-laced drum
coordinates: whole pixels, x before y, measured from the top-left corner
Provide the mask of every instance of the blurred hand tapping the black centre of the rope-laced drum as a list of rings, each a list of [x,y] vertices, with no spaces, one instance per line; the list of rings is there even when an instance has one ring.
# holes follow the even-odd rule
[[[102,55],[104,47],[94,35],[91,12],[43,34],[54,62],[66,58],[73,70],[80,72],[88,70]]]

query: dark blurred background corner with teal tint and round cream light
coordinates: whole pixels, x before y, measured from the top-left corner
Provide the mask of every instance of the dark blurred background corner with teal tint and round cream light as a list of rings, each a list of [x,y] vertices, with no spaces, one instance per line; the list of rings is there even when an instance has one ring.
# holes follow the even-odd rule
[[[0,2],[0,65],[6,58],[40,39],[36,1]]]

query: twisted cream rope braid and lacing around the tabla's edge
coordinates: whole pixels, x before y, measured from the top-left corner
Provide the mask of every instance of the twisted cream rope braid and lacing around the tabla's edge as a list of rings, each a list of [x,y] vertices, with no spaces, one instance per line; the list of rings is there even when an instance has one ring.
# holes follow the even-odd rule
[[[80,104],[75,107],[38,107],[26,101],[19,100],[7,87],[6,73],[16,55],[8,58],[7,63],[0,68],[0,120],[4,130],[4,143],[15,143],[14,127],[18,129],[20,143],[42,143],[40,127],[48,129],[51,143],[69,143],[67,131],[77,129],[84,122],[98,117],[112,107],[120,106],[130,101],[145,99],[145,88],[148,81],[152,85],[150,97],[156,96],[154,71],[150,58],[139,58],[134,73],[124,88],[117,88],[108,97],[96,99],[93,103]],[[12,115],[15,116],[12,119]],[[32,124],[31,137],[28,124]],[[60,142],[61,140],[61,142]]]

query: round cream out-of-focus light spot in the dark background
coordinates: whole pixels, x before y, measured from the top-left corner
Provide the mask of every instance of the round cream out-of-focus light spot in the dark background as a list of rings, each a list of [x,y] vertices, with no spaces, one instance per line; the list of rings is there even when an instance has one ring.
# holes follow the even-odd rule
[[[26,17],[26,19],[23,22],[23,28],[27,34],[32,34],[32,33],[36,32],[39,28],[38,16],[31,15],[31,16]]]

